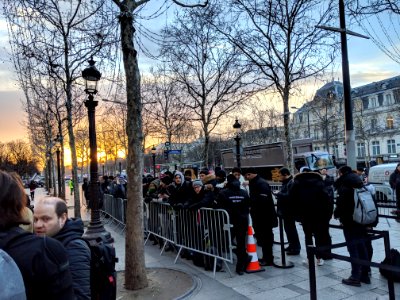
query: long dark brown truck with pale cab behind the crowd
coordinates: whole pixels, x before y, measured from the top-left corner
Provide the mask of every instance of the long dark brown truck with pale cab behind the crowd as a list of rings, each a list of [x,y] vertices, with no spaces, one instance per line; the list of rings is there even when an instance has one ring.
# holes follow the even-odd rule
[[[286,166],[287,153],[285,142],[275,142],[245,146],[241,150],[241,168],[254,167],[258,174],[268,181],[279,181],[279,169]],[[299,139],[292,141],[295,173],[306,166],[311,171],[327,169],[328,174],[336,178],[336,167],[332,155],[324,151],[313,151],[312,139]],[[236,152],[234,149],[221,150],[222,165],[230,171],[237,166]]]

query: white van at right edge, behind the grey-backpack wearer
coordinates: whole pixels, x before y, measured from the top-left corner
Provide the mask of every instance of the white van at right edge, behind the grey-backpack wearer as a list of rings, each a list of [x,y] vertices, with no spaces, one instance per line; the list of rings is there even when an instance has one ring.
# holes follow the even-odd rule
[[[390,187],[390,175],[396,169],[397,163],[373,166],[368,172],[368,183],[374,185],[378,202],[396,201],[396,195]]]

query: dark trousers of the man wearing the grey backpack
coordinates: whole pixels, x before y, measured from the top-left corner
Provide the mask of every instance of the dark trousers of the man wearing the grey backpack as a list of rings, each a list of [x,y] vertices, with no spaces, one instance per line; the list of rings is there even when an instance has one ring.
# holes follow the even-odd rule
[[[366,238],[367,229],[363,226],[346,226],[343,227],[343,234],[346,243],[351,243],[360,239]],[[366,242],[358,244],[347,245],[347,250],[349,251],[351,258],[358,258],[362,260],[370,260],[368,256],[368,248]],[[360,280],[362,277],[368,276],[368,267],[351,263],[351,277]]]

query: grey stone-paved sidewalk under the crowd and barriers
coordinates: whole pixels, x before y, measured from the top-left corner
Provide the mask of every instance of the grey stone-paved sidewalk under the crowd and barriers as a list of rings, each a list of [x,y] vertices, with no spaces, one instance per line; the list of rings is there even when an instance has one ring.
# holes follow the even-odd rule
[[[69,206],[73,205],[71,203],[73,203],[73,200],[68,201]],[[90,218],[84,208],[82,218],[84,220]],[[332,224],[337,223],[333,220]],[[287,261],[294,263],[294,267],[290,269],[265,267],[265,272],[238,276],[234,272],[235,266],[230,265],[233,277],[230,277],[228,272],[217,272],[216,277],[213,278],[212,272],[196,267],[186,259],[178,259],[177,263],[174,264],[176,253],[164,252],[160,255],[159,247],[151,245],[151,242],[145,246],[146,267],[171,268],[192,275],[197,283],[197,288],[186,299],[309,299],[308,267],[302,264],[302,261],[306,259],[304,235],[301,226],[297,228],[302,242],[302,250],[300,255],[286,257]],[[113,226],[106,225],[106,229],[115,239],[115,248],[119,258],[117,270],[124,270],[125,237],[116,232]],[[391,247],[400,249],[399,223],[392,219],[381,219],[376,229],[389,230]],[[331,228],[331,235],[333,243],[344,242],[341,230]],[[275,240],[278,239],[279,231],[276,229]],[[374,248],[372,260],[379,263],[385,256],[383,240],[374,240],[372,243]],[[346,248],[335,249],[334,253],[348,256]],[[277,262],[281,261],[280,245],[274,245],[274,256]],[[341,283],[342,278],[347,278],[349,275],[350,263],[345,261],[333,259],[325,261],[323,266],[317,266],[318,299],[389,299],[387,281],[380,275],[378,269],[372,268],[371,284],[363,284],[361,287],[343,285]],[[396,299],[400,299],[400,284],[395,284],[395,293]]]

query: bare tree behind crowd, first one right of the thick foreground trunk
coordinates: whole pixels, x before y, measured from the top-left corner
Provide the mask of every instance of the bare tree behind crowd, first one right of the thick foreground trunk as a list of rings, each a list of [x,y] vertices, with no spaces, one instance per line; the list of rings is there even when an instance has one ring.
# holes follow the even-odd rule
[[[161,49],[171,79],[186,93],[181,103],[201,125],[205,164],[209,162],[210,133],[251,94],[250,68],[242,63],[238,47],[211,25],[221,13],[218,5],[177,13],[174,23],[164,29]],[[229,28],[223,23],[219,26]]]

